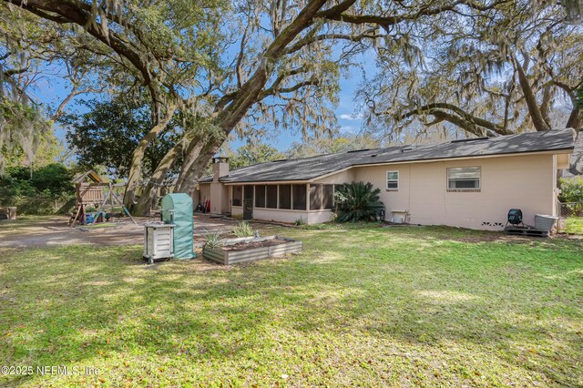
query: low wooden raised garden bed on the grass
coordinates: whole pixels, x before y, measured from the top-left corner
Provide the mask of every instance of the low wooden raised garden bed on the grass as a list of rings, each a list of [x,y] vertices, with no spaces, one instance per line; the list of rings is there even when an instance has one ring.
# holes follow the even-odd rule
[[[302,241],[280,236],[268,236],[260,239],[252,237],[229,239],[220,248],[202,249],[202,256],[221,264],[235,264],[254,260],[283,256],[302,251]]]

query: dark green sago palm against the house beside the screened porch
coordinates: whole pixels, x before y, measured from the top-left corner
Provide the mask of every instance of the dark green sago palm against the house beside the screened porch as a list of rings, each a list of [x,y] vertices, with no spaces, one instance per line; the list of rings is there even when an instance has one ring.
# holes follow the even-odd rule
[[[374,189],[370,182],[344,183],[334,193],[338,222],[375,220],[384,209],[379,199],[380,189]]]

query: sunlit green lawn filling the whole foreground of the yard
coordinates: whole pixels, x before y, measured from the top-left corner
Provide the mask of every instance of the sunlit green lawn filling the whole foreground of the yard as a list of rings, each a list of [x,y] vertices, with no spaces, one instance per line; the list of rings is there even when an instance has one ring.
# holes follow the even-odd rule
[[[583,242],[446,228],[271,229],[288,259],[144,265],[0,250],[0,386],[580,386]]]

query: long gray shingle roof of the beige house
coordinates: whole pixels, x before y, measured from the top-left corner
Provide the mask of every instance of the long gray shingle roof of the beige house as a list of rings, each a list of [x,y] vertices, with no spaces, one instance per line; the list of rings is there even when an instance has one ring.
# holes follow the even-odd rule
[[[334,171],[368,164],[442,158],[479,158],[549,150],[569,150],[574,147],[571,129],[530,132],[498,138],[474,138],[437,145],[394,146],[364,149],[312,158],[271,161],[238,168],[220,177],[221,182],[268,182],[279,180],[309,180]],[[201,179],[201,182],[212,178]]]

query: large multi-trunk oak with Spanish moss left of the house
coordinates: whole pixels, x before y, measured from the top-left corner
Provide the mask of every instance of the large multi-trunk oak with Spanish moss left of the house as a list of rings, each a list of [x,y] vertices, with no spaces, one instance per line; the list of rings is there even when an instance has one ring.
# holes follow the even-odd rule
[[[136,204],[183,157],[178,189],[189,192],[233,131],[257,126],[326,128],[337,79],[355,53],[390,47],[402,28],[438,15],[476,15],[505,0],[375,2],[270,0],[5,0],[77,36],[107,57],[124,85],[148,90],[153,126],[134,150],[126,199],[132,200],[144,152],[177,111],[190,130],[162,158]],[[81,28],[82,27],[82,28]],[[424,31],[424,35],[433,34]],[[88,45],[84,46],[87,47]]]

